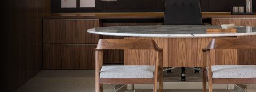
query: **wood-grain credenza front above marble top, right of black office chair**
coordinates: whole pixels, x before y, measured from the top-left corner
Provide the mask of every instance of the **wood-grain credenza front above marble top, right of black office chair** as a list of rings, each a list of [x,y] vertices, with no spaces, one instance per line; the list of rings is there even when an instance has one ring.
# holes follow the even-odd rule
[[[236,26],[256,27],[256,18],[213,18],[212,25],[235,24]]]

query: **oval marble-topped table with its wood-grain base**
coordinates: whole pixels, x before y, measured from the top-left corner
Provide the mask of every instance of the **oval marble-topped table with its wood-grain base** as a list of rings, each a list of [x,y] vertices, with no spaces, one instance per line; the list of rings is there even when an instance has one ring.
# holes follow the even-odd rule
[[[125,36],[124,39],[154,39],[163,48],[163,67],[202,67],[202,48],[213,38],[255,38],[255,27],[235,27],[236,32],[207,32],[221,26],[204,25],[149,25],[115,26],[88,29],[89,33]],[[124,65],[152,65],[154,51],[124,50]],[[256,64],[256,50],[215,50],[212,65]],[[140,56],[140,57],[138,57]],[[150,58],[150,59],[147,59]],[[129,84],[128,89],[133,89]]]

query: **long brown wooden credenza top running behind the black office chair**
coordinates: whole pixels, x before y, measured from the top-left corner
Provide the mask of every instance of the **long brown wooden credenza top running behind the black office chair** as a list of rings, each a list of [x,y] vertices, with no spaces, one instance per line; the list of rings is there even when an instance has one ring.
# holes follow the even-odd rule
[[[95,19],[162,19],[163,12],[132,13],[52,13],[45,18],[95,18]],[[231,15],[230,12],[202,12],[202,18],[256,17],[256,15]]]

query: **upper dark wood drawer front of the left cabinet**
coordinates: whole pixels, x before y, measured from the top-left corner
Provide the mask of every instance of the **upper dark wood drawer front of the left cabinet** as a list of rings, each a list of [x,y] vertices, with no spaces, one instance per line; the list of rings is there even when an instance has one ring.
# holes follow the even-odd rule
[[[99,27],[98,19],[46,19],[43,43],[98,43],[99,35],[87,29]]]

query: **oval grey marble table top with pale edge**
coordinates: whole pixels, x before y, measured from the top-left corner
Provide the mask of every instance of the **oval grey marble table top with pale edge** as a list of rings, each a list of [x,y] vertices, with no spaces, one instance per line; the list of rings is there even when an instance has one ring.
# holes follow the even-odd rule
[[[146,26],[114,26],[88,29],[89,33],[131,36],[131,37],[163,37],[163,38],[196,38],[220,36],[256,35],[256,27],[236,26],[237,32],[209,33],[206,29],[221,29],[221,26],[205,25],[146,25]]]

